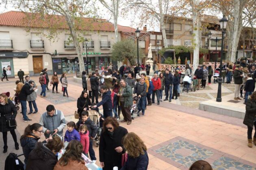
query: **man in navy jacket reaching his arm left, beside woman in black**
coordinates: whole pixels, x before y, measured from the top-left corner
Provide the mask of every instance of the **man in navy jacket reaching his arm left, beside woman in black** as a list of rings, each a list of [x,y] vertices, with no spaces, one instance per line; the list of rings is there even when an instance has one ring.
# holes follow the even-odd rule
[[[103,117],[104,119],[106,119],[108,116],[112,117],[111,91],[109,91],[105,85],[102,85],[100,89],[101,89],[101,92],[103,93],[102,100],[98,104],[94,105],[93,107],[96,108],[102,105]]]

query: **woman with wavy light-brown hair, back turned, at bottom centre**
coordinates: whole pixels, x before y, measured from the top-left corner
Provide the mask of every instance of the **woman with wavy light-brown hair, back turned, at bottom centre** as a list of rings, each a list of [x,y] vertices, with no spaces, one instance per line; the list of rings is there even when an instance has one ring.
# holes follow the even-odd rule
[[[149,161],[147,147],[141,138],[130,132],[124,136],[123,144],[128,158],[121,170],[147,170]]]

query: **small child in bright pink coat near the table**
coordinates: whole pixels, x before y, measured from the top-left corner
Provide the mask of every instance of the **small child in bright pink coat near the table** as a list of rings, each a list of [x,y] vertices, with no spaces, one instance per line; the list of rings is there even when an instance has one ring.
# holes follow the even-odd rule
[[[89,151],[89,131],[87,129],[86,125],[80,125],[79,127],[79,134],[80,134],[80,142],[82,144],[83,147],[83,153],[85,153],[85,155],[88,157],[88,151]]]

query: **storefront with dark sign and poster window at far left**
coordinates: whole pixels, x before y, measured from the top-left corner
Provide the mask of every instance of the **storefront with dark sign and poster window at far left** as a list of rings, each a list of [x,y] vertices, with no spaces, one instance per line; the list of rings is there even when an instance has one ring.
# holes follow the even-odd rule
[[[27,52],[5,52],[0,53],[0,68],[1,77],[3,76],[3,68],[6,69],[7,77],[14,77],[15,73],[22,68],[20,66],[21,61],[28,57]],[[24,67],[24,66],[23,66]],[[25,74],[28,68],[22,68]]]

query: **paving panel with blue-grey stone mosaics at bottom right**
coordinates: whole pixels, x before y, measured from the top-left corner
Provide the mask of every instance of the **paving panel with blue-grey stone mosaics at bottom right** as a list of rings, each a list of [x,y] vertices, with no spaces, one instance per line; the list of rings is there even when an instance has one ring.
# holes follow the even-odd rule
[[[148,153],[184,170],[197,160],[208,161],[215,170],[256,170],[256,164],[252,162],[180,136],[151,147]]]

